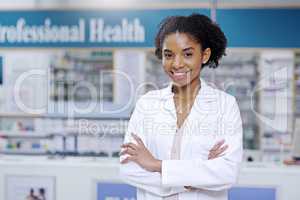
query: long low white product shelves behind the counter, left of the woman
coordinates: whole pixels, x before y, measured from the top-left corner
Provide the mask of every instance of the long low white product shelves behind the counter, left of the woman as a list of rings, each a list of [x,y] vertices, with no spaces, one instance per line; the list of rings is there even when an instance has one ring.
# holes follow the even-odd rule
[[[128,118],[13,120],[15,124],[3,126],[1,119],[0,153],[116,157],[128,124]],[[25,123],[26,130],[21,128]]]

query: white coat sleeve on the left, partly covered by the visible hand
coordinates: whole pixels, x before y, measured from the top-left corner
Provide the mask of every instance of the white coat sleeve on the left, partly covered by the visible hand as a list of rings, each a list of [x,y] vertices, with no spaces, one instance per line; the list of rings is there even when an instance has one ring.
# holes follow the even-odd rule
[[[131,133],[135,133],[143,140],[147,147],[147,139],[143,134],[143,114],[141,108],[139,108],[140,104],[141,100],[137,102],[136,108],[130,118],[124,143],[134,142]],[[126,155],[121,156],[120,161],[125,157]],[[120,164],[120,177],[125,183],[162,197],[186,191],[183,187],[162,186],[160,173],[146,171],[134,162]]]

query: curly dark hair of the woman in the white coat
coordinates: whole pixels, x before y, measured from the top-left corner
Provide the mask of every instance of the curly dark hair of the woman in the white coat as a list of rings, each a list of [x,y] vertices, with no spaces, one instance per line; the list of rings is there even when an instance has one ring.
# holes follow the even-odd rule
[[[220,27],[207,16],[194,13],[190,16],[167,17],[160,23],[155,37],[155,55],[159,59],[162,59],[162,44],[165,37],[175,32],[190,35],[201,45],[202,50],[211,49],[211,56],[202,67],[216,68],[220,58],[226,55],[227,39]]]

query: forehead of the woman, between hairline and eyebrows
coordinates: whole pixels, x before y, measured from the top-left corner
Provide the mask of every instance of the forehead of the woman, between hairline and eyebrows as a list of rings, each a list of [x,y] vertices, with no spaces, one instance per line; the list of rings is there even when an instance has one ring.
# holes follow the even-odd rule
[[[187,33],[171,33],[163,41],[163,49],[184,49],[188,47],[199,47],[200,44]]]

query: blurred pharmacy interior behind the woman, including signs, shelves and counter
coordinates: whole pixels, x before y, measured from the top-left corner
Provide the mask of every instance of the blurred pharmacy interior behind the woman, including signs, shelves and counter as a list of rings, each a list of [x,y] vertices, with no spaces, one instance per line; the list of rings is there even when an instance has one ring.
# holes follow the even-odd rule
[[[136,100],[169,82],[159,22],[192,13],[228,39],[201,77],[241,110],[229,199],[300,199],[299,0],[1,0],[0,200],[135,199],[120,145]]]

